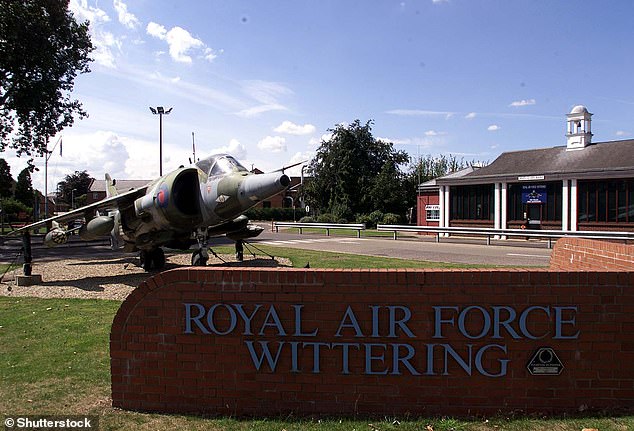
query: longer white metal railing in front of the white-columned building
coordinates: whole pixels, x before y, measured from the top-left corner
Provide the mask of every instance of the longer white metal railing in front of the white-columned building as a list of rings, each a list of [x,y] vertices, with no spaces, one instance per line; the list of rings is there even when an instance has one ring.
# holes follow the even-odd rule
[[[610,239],[632,241],[634,232],[605,232],[605,231],[563,231],[563,230],[533,230],[533,229],[493,229],[480,227],[436,227],[436,226],[410,226],[410,225],[385,225],[377,226],[379,231],[393,232],[393,238],[398,238],[398,232],[435,233],[436,242],[440,242],[442,235],[477,235],[485,236],[487,245],[491,245],[491,239],[505,239],[505,237],[540,238],[548,240],[548,248],[552,248],[552,240],[563,237],[576,237],[588,239]]]

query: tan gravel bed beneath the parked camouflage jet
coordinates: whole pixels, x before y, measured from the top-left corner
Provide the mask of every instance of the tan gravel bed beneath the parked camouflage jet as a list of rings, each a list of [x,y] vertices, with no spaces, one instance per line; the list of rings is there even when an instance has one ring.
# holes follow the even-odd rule
[[[220,255],[222,262],[210,256],[208,266],[279,267],[292,266],[285,258],[245,255],[243,262],[236,262],[231,255]],[[188,266],[189,254],[167,255],[165,270]],[[123,301],[141,281],[152,273],[138,266],[138,258],[121,256],[107,259],[65,259],[33,265],[33,274],[42,274],[42,284],[16,286],[15,275],[22,269],[9,271],[0,281],[0,296],[35,296],[40,298],[94,298]]]

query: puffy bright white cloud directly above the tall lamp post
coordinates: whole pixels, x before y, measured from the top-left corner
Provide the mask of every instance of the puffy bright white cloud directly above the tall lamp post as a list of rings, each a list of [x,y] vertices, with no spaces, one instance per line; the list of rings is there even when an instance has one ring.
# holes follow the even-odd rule
[[[145,27],[145,31],[150,36],[167,42],[170,57],[176,62],[191,64],[193,60],[189,54],[192,52],[199,52],[200,56],[208,61],[217,57],[202,40],[196,39],[182,27],[172,27],[168,31],[161,24],[151,21]]]

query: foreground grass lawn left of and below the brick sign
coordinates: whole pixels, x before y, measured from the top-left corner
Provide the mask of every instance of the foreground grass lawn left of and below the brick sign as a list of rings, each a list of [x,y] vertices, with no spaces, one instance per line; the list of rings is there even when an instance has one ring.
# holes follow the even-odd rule
[[[120,303],[0,297],[0,413],[98,415],[100,430],[557,430],[634,429],[634,417],[489,418],[463,421],[406,417],[236,419],[158,415],[110,406],[108,337]],[[428,428],[429,426],[429,428]]]

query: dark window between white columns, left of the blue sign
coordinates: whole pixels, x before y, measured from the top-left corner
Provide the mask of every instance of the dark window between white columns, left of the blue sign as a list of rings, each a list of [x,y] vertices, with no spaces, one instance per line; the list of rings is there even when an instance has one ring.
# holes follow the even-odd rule
[[[493,184],[451,187],[452,220],[493,220]]]

